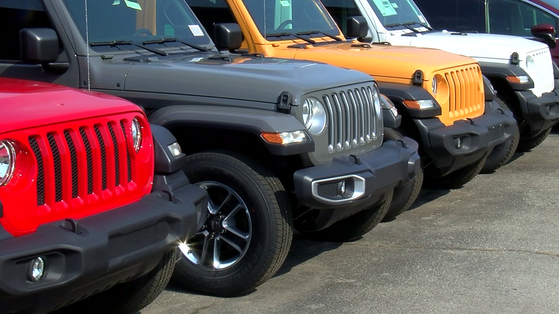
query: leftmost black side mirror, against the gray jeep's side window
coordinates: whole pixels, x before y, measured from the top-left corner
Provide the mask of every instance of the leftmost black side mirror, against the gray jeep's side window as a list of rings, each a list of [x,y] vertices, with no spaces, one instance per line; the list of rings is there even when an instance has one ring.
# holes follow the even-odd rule
[[[49,63],[58,60],[58,35],[52,28],[20,30],[20,56],[26,62]]]

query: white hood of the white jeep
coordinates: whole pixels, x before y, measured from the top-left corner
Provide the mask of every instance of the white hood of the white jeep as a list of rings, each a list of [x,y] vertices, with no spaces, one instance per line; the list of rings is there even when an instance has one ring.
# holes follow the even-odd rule
[[[517,36],[448,31],[425,32],[413,36],[394,36],[390,41],[395,45],[444,49],[451,53],[470,56],[479,61],[483,61],[482,59],[509,60],[513,53],[518,53],[520,60],[523,60],[526,54],[547,47],[542,42]]]

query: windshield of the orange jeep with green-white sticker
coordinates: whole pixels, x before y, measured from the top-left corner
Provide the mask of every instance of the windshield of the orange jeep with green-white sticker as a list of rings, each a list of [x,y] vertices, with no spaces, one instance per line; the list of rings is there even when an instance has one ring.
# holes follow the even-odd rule
[[[243,2],[263,36],[280,32],[296,34],[307,31],[340,34],[338,26],[319,0],[243,0]],[[286,37],[267,39],[285,40]]]

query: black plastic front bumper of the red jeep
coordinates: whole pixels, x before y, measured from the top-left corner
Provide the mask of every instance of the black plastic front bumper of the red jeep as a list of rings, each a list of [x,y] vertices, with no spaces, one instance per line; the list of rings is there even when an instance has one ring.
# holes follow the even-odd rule
[[[0,241],[0,313],[45,312],[148,273],[178,240],[192,236],[206,211],[206,192],[188,184],[139,201]],[[27,279],[30,261],[46,258],[39,282]]]

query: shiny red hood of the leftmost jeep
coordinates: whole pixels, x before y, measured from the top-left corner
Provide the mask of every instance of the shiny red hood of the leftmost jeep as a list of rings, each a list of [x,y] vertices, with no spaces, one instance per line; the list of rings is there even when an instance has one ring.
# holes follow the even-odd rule
[[[0,133],[113,113],[140,111],[106,94],[21,79],[0,78]]]

